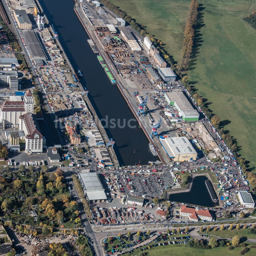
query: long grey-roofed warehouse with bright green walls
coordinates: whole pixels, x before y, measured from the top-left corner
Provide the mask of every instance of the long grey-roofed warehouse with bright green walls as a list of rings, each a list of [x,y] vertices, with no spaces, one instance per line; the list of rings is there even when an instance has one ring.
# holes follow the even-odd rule
[[[169,105],[176,107],[184,121],[198,121],[198,112],[190,104],[182,90],[175,89],[173,92],[167,92],[164,97]]]

